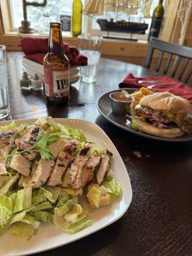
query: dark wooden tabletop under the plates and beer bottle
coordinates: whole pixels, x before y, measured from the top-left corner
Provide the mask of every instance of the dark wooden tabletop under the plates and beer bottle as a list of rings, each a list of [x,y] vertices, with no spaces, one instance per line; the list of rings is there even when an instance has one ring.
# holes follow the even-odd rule
[[[129,72],[138,77],[157,73],[102,59],[95,84],[76,83],[68,106],[47,106],[42,92],[20,92],[20,56],[20,52],[8,52],[12,118],[50,115],[95,122],[120,152],[133,191],[129,210],[116,223],[75,243],[38,255],[192,255],[192,143],[167,143],[134,136],[110,124],[96,108],[99,96],[117,89]],[[140,151],[142,157],[136,157],[134,151]]]

